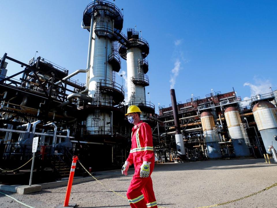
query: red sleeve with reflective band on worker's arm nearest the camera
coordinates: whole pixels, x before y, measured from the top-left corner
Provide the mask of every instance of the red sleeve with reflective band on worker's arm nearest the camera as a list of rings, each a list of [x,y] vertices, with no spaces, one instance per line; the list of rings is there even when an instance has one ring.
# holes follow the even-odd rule
[[[150,162],[154,156],[153,137],[151,127],[147,123],[141,124],[141,136],[144,142],[143,161]]]

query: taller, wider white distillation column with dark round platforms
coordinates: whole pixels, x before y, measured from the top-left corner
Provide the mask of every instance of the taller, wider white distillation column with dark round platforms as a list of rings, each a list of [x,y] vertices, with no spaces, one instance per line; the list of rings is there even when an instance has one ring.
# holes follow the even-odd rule
[[[88,96],[91,105],[97,106],[87,116],[86,127],[89,134],[113,134],[112,112],[108,106],[123,101],[122,86],[115,83],[115,72],[120,69],[117,55],[117,34],[123,26],[123,16],[115,4],[109,1],[93,1],[85,9],[84,26],[93,25],[91,60],[88,74]],[[118,66],[119,65],[119,66]],[[123,94],[123,96],[122,96]],[[122,99],[118,99],[122,97]]]

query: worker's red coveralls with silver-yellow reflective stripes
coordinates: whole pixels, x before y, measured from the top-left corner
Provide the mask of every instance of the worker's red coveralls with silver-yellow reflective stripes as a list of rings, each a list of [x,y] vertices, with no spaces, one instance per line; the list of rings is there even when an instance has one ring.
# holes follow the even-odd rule
[[[127,191],[130,206],[132,208],[158,208],[150,177],[155,164],[152,131],[145,122],[140,121],[132,129],[132,147],[127,161],[134,163],[135,167],[135,173]],[[151,162],[150,175],[147,178],[140,177],[143,161]]]

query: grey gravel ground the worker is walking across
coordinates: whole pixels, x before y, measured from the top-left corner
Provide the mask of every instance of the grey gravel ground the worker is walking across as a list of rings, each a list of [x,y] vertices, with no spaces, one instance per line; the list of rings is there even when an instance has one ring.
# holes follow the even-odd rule
[[[277,182],[277,165],[264,159],[209,160],[156,165],[152,173],[158,206],[192,208],[223,203],[252,194]],[[130,170],[129,174],[134,171]],[[102,179],[102,183],[125,195],[132,175]],[[20,195],[5,192],[36,208],[62,204],[66,187]],[[221,208],[277,208],[277,186]],[[73,185],[70,202],[79,208],[128,208],[128,201],[103,188],[96,181]],[[0,194],[1,208],[24,208]]]

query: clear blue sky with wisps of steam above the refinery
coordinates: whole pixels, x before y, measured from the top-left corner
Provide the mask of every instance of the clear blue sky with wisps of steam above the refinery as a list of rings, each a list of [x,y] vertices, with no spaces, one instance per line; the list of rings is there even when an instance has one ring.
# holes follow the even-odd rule
[[[27,63],[38,51],[70,73],[86,68],[89,32],[81,21],[90,2],[1,1],[0,56],[6,52]],[[124,8],[123,32],[136,25],[149,42],[146,93],[156,110],[158,103],[171,103],[171,87],[182,102],[211,89],[223,93],[234,87],[244,98],[277,88],[277,1],[115,3]],[[22,68],[7,69],[12,75]],[[85,75],[75,79],[85,82]]]

